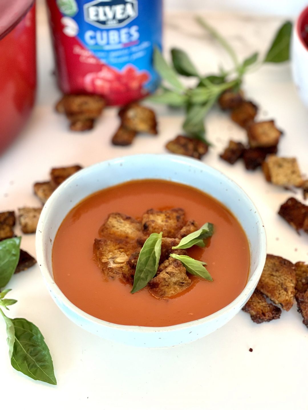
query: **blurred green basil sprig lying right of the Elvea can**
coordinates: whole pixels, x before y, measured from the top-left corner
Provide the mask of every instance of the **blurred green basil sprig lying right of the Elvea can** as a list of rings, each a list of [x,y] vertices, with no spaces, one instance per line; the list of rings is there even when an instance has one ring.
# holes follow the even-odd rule
[[[172,65],[164,59],[158,48],[154,48],[154,67],[163,80],[163,84],[156,94],[147,99],[153,103],[166,104],[172,107],[182,107],[186,118],[182,128],[192,138],[205,139],[205,117],[215,105],[221,94],[227,89],[238,91],[243,76],[261,66],[262,63],[280,63],[290,58],[290,36],[292,24],[288,21],[278,30],[271,43],[266,57],[259,58],[258,52],[253,52],[240,62],[230,43],[217,30],[209,25],[201,17],[196,21],[202,26],[229,54],[233,68],[230,71],[220,69],[216,75],[200,74],[188,54],[179,48],[172,48]],[[195,77],[194,87],[184,87],[179,75]],[[165,86],[167,85],[167,87]]]

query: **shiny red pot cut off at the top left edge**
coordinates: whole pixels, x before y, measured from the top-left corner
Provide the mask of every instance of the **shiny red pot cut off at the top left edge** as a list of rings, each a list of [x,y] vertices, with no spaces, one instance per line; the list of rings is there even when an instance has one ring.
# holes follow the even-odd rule
[[[1,0],[0,152],[28,120],[35,89],[34,0]]]

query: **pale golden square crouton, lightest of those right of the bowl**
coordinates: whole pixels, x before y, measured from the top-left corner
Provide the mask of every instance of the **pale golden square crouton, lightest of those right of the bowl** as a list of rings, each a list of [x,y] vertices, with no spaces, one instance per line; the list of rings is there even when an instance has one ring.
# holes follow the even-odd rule
[[[303,183],[296,158],[280,158],[269,155],[262,169],[267,181],[274,185],[300,187]]]

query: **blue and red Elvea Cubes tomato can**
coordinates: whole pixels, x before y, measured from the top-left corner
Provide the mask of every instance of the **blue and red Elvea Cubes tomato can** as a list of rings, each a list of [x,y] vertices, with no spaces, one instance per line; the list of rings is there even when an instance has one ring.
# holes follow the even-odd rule
[[[63,93],[102,95],[124,105],[159,84],[162,0],[47,0],[57,81]]]

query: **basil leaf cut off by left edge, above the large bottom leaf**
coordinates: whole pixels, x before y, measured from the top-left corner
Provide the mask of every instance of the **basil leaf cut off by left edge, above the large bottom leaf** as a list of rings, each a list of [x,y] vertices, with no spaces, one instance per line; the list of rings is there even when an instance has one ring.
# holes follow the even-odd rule
[[[0,288],[4,287],[15,272],[19,260],[21,237],[0,242]]]

